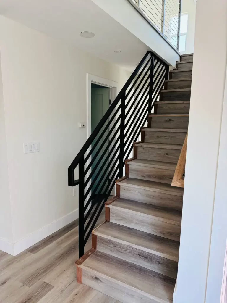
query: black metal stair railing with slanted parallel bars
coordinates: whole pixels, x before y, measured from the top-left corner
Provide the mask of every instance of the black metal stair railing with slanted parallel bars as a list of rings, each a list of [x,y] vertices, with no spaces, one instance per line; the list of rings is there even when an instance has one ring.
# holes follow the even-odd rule
[[[79,185],[79,257],[168,72],[166,63],[147,52],[68,168],[69,186]]]

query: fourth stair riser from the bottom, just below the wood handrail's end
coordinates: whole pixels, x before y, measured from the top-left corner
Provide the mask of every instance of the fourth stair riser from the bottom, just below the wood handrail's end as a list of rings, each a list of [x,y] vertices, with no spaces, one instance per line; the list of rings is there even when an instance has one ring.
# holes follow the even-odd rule
[[[122,198],[182,211],[183,197],[143,188],[121,186]]]

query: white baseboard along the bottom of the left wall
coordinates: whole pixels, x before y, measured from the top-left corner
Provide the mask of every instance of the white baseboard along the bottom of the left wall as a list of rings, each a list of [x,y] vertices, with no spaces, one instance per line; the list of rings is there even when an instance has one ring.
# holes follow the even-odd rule
[[[53,234],[55,231],[58,231],[62,227],[66,226],[67,224],[76,220],[78,218],[78,214],[79,214],[79,210],[76,209],[76,210],[72,211],[71,213],[67,214],[66,216],[52,222],[51,224],[46,225],[37,231],[34,231],[32,234],[28,235],[26,238],[23,238],[14,244],[8,243],[8,242],[1,243],[2,240],[0,239],[0,249],[2,251],[7,252],[10,255],[16,256],[20,252],[26,250],[27,248],[31,247],[32,245],[38,243],[39,241],[41,241],[44,238],[48,237],[49,235]]]

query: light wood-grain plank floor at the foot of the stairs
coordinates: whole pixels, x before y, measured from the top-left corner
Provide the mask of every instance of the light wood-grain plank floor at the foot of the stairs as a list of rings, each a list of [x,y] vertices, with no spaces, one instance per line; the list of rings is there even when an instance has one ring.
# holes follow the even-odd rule
[[[105,221],[102,213],[97,225]],[[76,281],[77,221],[12,257],[0,251],[1,303],[120,303]],[[85,251],[91,247],[91,239]]]

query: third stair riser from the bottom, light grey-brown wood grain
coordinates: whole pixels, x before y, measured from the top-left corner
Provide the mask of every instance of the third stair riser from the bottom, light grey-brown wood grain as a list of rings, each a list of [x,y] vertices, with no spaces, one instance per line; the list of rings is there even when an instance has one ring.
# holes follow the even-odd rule
[[[145,231],[163,238],[180,241],[179,225],[154,220],[152,217],[144,217],[137,215],[137,213],[122,211],[122,209],[119,211],[110,208],[110,222]]]

